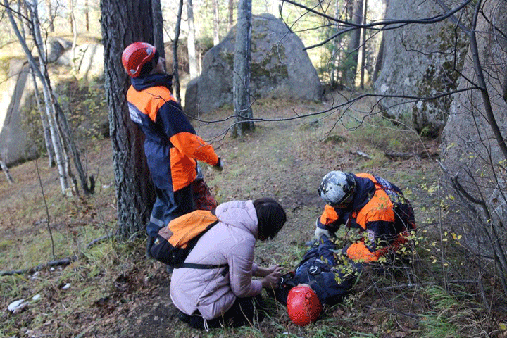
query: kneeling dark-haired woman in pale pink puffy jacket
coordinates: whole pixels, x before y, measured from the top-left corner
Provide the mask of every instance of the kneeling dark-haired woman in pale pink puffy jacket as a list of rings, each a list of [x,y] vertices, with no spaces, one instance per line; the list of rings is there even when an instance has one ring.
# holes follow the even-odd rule
[[[257,239],[273,239],[287,220],[282,206],[269,198],[226,202],[215,215],[219,222],[199,239],[185,263],[225,267],[176,268],[170,283],[180,320],[206,330],[252,323],[255,315],[263,319],[256,311],[264,306],[262,289],[277,286],[281,268],[253,263],[253,249]]]

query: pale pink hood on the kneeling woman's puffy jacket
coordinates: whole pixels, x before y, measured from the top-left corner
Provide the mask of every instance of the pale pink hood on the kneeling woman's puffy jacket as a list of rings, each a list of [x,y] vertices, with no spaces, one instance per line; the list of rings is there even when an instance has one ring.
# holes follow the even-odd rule
[[[216,208],[215,215],[220,222],[246,230],[258,239],[257,232],[257,213],[253,202],[249,201],[230,201],[220,204]]]

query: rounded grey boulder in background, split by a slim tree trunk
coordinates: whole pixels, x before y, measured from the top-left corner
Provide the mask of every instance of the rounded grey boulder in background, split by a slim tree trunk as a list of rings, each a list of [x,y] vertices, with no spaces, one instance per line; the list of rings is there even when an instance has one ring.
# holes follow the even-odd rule
[[[196,116],[232,105],[235,27],[203,60],[201,75],[189,82],[185,112]],[[250,90],[254,98],[319,100],[322,86],[301,39],[273,15],[252,18]]]

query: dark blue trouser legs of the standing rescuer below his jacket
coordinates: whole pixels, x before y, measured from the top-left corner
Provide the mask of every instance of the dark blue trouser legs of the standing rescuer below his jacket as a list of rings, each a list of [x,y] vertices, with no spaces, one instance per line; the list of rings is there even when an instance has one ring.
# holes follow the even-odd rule
[[[181,215],[194,211],[192,184],[183,189],[171,192],[155,188],[156,201],[151,209],[151,217],[146,232],[150,237],[156,237],[158,230]]]

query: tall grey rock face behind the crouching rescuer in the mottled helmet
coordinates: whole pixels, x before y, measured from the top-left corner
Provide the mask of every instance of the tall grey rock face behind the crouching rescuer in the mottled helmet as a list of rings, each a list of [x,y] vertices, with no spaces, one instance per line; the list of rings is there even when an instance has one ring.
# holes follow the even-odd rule
[[[385,18],[432,18],[442,12],[436,1],[390,0]],[[453,32],[450,20],[384,31],[384,61],[375,82],[375,92],[431,97],[456,89],[458,75],[453,71],[456,43]],[[457,46],[456,68],[461,70],[467,44],[458,39]],[[410,120],[416,130],[425,130],[427,134],[437,134],[442,129],[450,105],[449,96],[432,101],[382,100],[384,115],[395,120]]]

